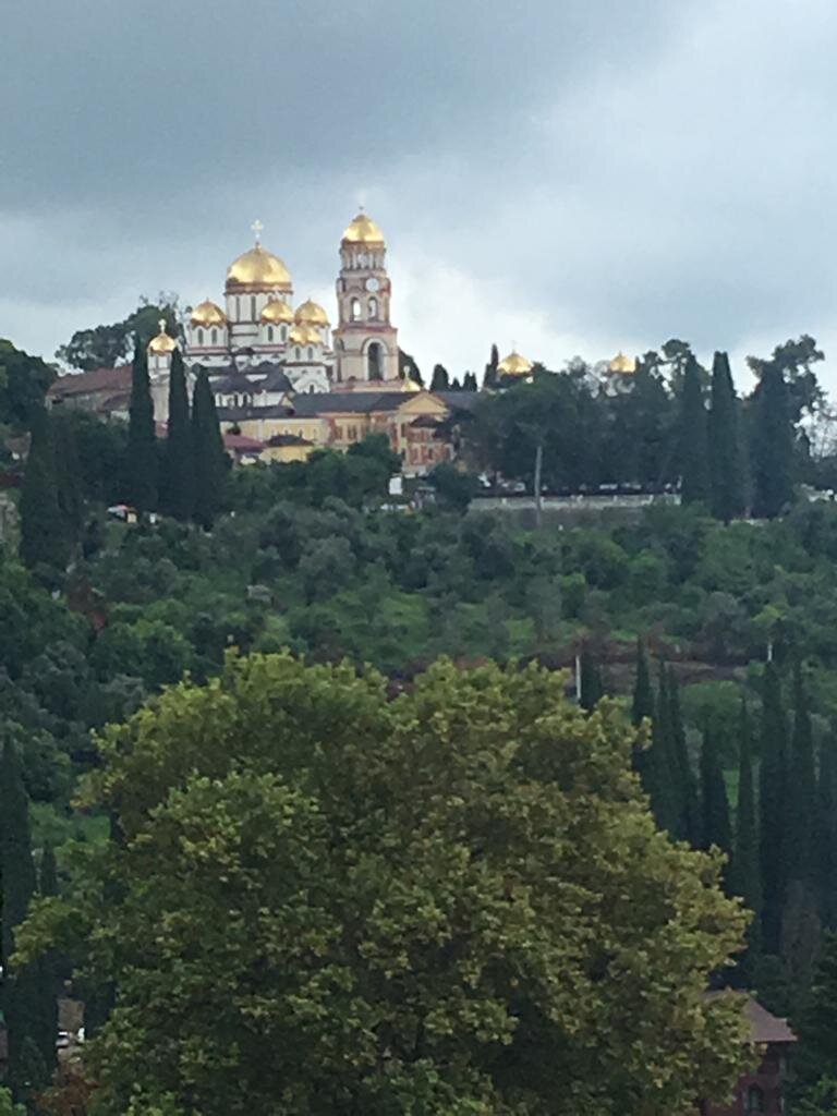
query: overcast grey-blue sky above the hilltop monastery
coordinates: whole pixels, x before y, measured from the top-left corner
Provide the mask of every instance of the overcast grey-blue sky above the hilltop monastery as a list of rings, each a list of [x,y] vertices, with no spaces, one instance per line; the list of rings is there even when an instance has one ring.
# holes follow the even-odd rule
[[[333,316],[363,201],[423,368],[833,357],[835,57],[835,0],[9,0],[0,336],[220,300],[256,218]]]

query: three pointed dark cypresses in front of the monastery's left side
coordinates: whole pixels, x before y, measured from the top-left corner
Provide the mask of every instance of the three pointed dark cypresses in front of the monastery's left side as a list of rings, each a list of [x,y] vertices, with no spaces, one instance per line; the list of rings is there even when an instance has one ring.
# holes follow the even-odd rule
[[[175,519],[209,528],[221,507],[227,455],[215,401],[205,369],[198,376],[190,415],[189,391],[180,349],[169,377],[169,433],[162,461],[157,453],[154,404],[145,346],[137,344],[128,411],[125,489],[141,512],[157,509]]]

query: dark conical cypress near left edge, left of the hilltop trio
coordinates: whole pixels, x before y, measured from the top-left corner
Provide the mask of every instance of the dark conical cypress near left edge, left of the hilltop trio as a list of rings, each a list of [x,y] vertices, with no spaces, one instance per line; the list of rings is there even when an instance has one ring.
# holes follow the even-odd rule
[[[58,502],[50,417],[40,407],[32,420],[31,443],[20,493],[20,557],[29,569],[65,569],[69,560],[67,523]]]

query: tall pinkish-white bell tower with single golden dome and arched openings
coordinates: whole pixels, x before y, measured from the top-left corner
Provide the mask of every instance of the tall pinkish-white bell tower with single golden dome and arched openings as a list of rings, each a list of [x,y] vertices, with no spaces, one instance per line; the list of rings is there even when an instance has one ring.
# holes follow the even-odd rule
[[[398,391],[398,335],[389,323],[386,244],[360,210],[340,241],[339,319],[334,330],[337,391]]]

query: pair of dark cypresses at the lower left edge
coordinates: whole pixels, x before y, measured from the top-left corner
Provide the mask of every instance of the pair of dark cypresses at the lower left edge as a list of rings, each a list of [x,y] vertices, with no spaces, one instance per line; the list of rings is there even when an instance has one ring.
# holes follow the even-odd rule
[[[0,754],[0,867],[2,868],[2,1006],[8,1029],[8,1080],[18,1100],[48,1084],[56,1066],[58,971],[55,959],[18,965],[16,931],[37,894],[56,895],[51,849],[45,848],[36,872],[29,831],[29,799],[17,748],[6,742]]]

